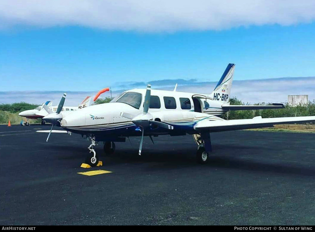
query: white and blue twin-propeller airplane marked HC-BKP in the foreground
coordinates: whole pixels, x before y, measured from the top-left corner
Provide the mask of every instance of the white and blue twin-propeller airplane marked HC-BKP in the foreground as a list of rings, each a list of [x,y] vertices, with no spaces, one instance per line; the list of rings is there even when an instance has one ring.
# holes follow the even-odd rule
[[[44,117],[68,132],[85,135],[91,144],[86,163],[95,166],[97,142],[104,142],[106,154],[115,151],[114,142],[125,142],[130,136],[141,136],[141,155],[144,136],[192,134],[198,145],[197,161],[207,163],[211,152],[211,132],[273,127],[275,124],[315,121],[315,116],[224,120],[218,116],[229,110],[279,109],[283,104],[229,105],[234,64],[229,64],[211,94],[195,94],[164,90],[132,89],[119,94],[110,103],[92,105],[81,111],[60,113],[66,94],[57,111]],[[44,106],[47,108],[46,106]],[[53,129],[53,126],[51,130]],[[50,131],[51,132],[51,131]],[[50,135],[50,133],[49,133]],[[49,138],[48,135],[48,138]],[[47,141],[48,141],[47,138]]]

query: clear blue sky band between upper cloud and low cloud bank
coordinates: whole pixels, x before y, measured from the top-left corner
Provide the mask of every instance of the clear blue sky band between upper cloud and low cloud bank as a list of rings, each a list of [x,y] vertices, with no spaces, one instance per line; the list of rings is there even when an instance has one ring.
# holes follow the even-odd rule
[[[216,81],[315,75],[315,23],[221,31],[119,32],[86,27],[0,33],[1,91],[95,90],[161,79]],[[117,88],[117,87],[116,87]]]

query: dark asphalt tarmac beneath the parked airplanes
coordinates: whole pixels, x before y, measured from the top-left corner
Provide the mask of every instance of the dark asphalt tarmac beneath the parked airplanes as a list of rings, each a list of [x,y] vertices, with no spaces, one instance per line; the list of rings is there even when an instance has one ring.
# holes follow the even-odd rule
[[[49,129],[0,126],[0,224],[315,224],[315,134],[213,133],[206,165],[190,135],[131,138],[84,169],[89,141]]]

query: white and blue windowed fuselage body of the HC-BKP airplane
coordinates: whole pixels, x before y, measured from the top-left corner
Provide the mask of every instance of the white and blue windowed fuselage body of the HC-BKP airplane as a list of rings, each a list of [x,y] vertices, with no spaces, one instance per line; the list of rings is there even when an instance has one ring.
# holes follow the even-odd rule
[[[133,116],[140,114],[143,111],[145,91],[146,89],[128,90],[113,102],[91,105],[75,113],[69,112],[61,121],[61,127],[82,135],[95,135],[99,141],[139,136],[139,127],[120,116],[120,113],[128,112]],[[193,133],[193,125],[197,121],[210,120],[210,117],[213,120],[222,120],[216,116],[227,110],[221,107],[221,101],[210,100],[210,97],[213,96],[152,89],[148,113],[155,117],[153,120],[167,122],[177,130],[170,132],[164,128],[152,127],[146,131],[146,135],[183,135]]]

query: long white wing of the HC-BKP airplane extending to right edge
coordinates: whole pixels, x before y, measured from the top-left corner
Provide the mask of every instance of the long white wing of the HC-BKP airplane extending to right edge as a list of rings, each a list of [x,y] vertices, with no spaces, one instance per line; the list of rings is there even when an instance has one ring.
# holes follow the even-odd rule
[[[314,122],[315,116],[305,117],[282,117],[282,118],[261,118],[261,116],[252,119],[219,120],[219,121],[200,121],[196,123],[194,129],[197,131],[234,131],[261,127],[273,127],[276,124],[290,124]]]

